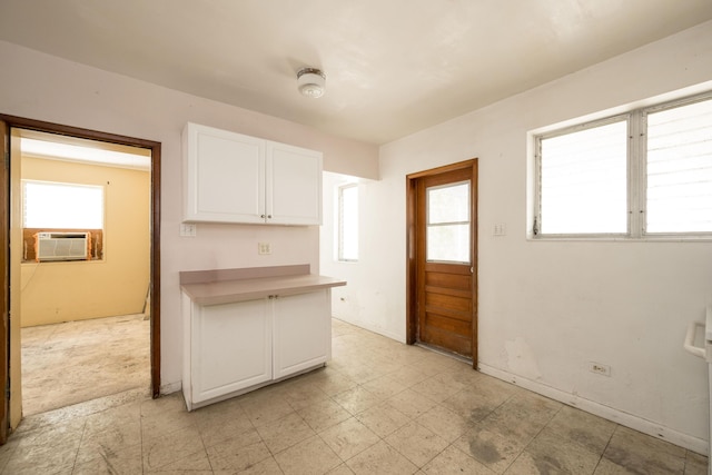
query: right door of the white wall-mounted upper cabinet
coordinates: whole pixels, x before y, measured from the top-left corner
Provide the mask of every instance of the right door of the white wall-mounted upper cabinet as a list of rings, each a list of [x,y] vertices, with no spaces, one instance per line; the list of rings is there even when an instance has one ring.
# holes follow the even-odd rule
[[[267,222],[322,224],[322,152],[267,144]]]

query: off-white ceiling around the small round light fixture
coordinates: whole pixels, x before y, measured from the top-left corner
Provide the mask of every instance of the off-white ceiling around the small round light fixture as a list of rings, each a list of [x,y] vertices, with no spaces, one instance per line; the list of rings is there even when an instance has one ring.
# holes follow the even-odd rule
[[[2,0],[0,40],[384,144],[712,19],[712,0]],[[301,67],[327,91],[296,90]]]

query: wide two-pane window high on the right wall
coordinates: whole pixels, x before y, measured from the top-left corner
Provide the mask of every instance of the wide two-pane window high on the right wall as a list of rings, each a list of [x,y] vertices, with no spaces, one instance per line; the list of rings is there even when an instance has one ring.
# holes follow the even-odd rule
[[[534,235],[712,236],[712,96],[535,140]]]

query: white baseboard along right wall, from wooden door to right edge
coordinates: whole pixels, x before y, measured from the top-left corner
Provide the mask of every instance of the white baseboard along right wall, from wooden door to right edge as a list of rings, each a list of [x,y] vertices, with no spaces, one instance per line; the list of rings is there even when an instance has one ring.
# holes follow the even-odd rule
[[[621,424],[622,426],[642,432],[643,434],[647,434],[653,437],[670,442],[671,444],[675,444],[680,447],[684,447],[698,454],[708,455],[709,448],[708,441],[705,439],[680,433],[670,427],[661,426],[660,424],[655,424],[642,417],[605,406],[594,400],[585,399],[581,396],[565,393],[561,389],[556,389],[542,383],[533,382],[531,379],[513,375],[492,366],[487,366],[484,364],[478,364],[477,366],[481,373],[493,376],[497,379],[515,384],[531,392],[541,394],[542,396],[546,396],[551,399],[558,400],[560,403],[566,404],[568,406],[585,410],[586,413],[603,417],[604,419]]]

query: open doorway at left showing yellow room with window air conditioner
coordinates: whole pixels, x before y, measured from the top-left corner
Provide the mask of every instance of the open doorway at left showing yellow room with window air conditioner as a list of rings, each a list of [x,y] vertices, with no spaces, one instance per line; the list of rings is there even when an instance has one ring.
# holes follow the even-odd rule
[[[158,397],[160,144],[0,119],[9,151],[8,206],[0,212],[10,236],[4,263],[10,325],[8,338],[0,335],[10,394],[2,432],[19,424],[23,403],[31,414],[135,385]],[[98,220],[73,221],[92,212]],[[50,386],[40,393],[57,400],[30,400],[38,395],[34,373],[52,360],[63,369],[53,377],[50,369]],[[85,363],[75,374],[72,360]],[[81,385],[70,392],[76,394],[59,390],[72,380]]]

